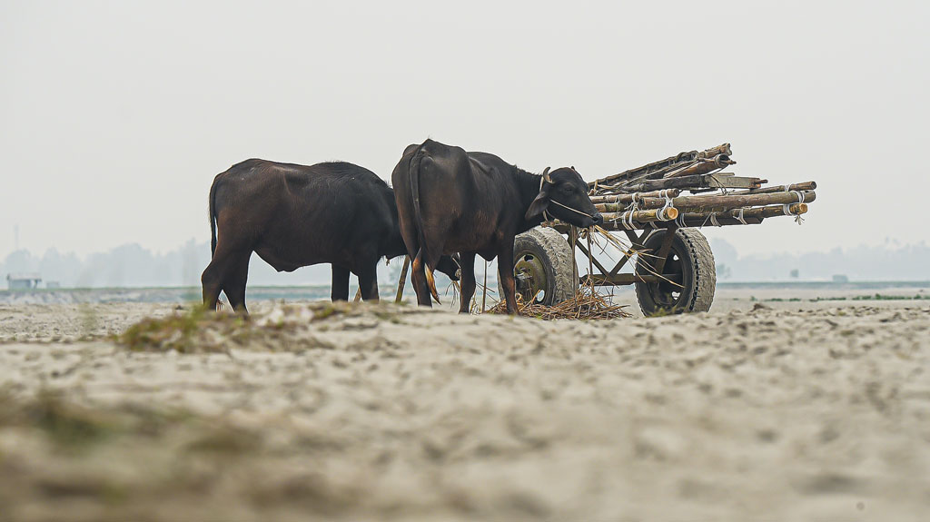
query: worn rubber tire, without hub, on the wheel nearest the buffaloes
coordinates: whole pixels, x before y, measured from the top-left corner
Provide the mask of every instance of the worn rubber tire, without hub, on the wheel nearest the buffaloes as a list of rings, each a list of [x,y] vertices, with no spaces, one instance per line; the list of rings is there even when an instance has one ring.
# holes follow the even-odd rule
[[[568,241],[554,228],[536,227],[513,240],[514,265],[520,256],[536,255],[546,271],[546,294],[540,304],[551,307],[571,299],[578,291],[578,274],[572,261]],[[504,300],[504,289],[498,281],[498,297]]]

